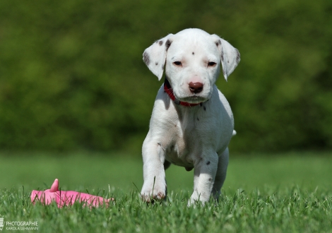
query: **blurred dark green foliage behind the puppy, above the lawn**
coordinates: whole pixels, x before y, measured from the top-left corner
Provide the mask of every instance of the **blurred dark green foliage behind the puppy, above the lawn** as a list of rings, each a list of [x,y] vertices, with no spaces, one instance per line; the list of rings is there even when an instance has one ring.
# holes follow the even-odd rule
[[[140,150],[155,40],[201,28],[241,53],[217,85],[231,150],[332,148],[332,1],[0,1],[0,148]]]

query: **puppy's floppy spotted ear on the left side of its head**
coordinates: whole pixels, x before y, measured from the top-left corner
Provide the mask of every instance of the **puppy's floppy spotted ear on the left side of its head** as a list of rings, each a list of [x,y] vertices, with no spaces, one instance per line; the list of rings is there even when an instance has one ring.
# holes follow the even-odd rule
[[[169,34],[157,40],[143,52],[143,61],[150,71],[158,77],[158,80],[162,78],[162,73],[164,72],[167,49],[172,43],[171,37],[172,34]]]

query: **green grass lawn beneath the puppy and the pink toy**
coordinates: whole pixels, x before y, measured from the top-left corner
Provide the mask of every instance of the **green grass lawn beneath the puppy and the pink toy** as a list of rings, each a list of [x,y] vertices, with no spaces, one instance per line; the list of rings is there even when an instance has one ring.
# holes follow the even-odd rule
[[[31,232],[332,232],[332,154],[233,155],[218,203],[187,208],[192,172],[167,170],[165,203],[139,198],[140,156],[77,153],[0,154],[0,215],[37,221]],[[109,208],[30,203],[32,189],[114,197]],[[3,232],[11,232],[5,228]]]

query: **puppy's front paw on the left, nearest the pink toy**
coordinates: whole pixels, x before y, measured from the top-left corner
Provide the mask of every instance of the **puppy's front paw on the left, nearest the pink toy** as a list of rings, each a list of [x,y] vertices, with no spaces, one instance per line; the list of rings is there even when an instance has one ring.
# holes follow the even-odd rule
[[[141,197],[143,201],[146,201],[147,203],[155,201],[162,201],[165,200],[167,195],[166,191],[166,184],[165,182],[163,184],[143,184],[143,188],[141,191]]]

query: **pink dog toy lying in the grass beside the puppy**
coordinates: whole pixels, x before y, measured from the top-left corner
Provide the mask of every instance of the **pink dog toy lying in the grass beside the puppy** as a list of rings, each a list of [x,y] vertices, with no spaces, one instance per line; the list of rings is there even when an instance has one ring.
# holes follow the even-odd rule
[[[40,201],[45,205],[49,205],[55,201],[59,208],[64,205],[73,205],[75,201],[87,203],[90,207],[98,207],[99,205],[109,205],[109,199],[100,196],[93,196],[88,193],[79,193],[76,191],[59,191],[59,181],[55,179],[51,189],[45,191],[32,190],[31,202]],[[113,199],[112,199],[113,201]]]

